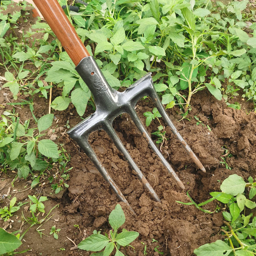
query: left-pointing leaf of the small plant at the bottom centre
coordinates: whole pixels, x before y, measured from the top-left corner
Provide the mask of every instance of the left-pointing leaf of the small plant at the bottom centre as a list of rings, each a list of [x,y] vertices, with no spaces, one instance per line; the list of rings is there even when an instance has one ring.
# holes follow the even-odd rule
[[[93,234],[88,236],[77,247],[81,250],[97,252],[102,250],[109,242],[106,236],[101,234]]]

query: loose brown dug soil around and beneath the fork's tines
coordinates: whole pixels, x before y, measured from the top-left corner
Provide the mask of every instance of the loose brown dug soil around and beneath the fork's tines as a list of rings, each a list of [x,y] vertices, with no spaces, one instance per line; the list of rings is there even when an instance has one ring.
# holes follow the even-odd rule
[[[3,72],[4,70],[2,73],[0,72],[0,76],[4,75]],[[60,95],[60,91],[54,87],[53,99],[58,95]],[[24,97],[24,95],[20,95],[20,97]],[[4,110],[12,110],[10,105],[6,105],[8,100],[13,101],[12,94],[4,88],[0,91],[0,114],[3,114]],[[93,150],[126,196],[136,215],[132,214],[126,204],[119,202],[115,193],[89,158],[68,137],[65,127],[67,120],[71,127],[81,121],[74,106],[70,104],[64,111],[52,110],[54,122],[44,138],[51,138],[70,154],[71,161],[68,167],[73,167],[73,169],[69,172],[69,188],[54,194],[47,179],[43,186],[33,189],[27,189],[30,186],[29,179],[17,180],[12,187],[11,182],[16,173],[8,171],[7,174],[1,174],[1,196],[9,192],[12,196],[17,197],[17,202],[26,202],[28,195],[47,196],[49,200],[45,202],[45,212],[49,212],[52,207],[59,205],[49,215],[51,218],[40,228],[43,229],[42,232],[46,236],[42,235],[40,238],[36,231],[38,225],[33,226],[22,239],[23,244],[19,250],[29,248],[30,250],[23,254],[27,256],[90,255],[90,252],[78,249],[70,250],[74,244],[69,239],[78,244],[82,239],[91,235],[94,229],[102,231],[103,234],[104,232],[108,233],[110,230],[108,215],[117,203],[121,204],[126,217],[126,222],[122,227],[140,233],[140,236],[132,243],[134,248],[125,247],[121,250],[125,255],[143,256],[144,246],[147,245],[146,252],[149,256],[160,255],[154,250],[156,246],[159,246],[157,247],[158,251],[164,252],[164,256],[188,256],[193,255],[194,249],[202,244],[223,239],[219,234],[223,224],[221,211],[207,214],[193,206],[175,201],[189,202],[186,195],[188,190],[189,195],[196,202],[205,201],[210,198],[210,192],[220,191],[221,182],[233,173],[241,175],[245,179],[249,176],[255,178],[256,114],[251,111],[253,104],[244,102],[240,96],[235,101],[240,102],[241,110],[228,108],[224,101],[216,100],[208,91],[204,90],[193,96],[192,110],[187,116],[190,120],[183,119],[177,122],[181,118],[180,109],[167,109],[176,128],[206,168],[206,173],[196,169],[196,165],[175,139],[170,128],[165,126],[168,140],[165,140],[162,151],[185,185],[185,190],[181,190],[168,175],[159,158],[148,147],[146,140],[127,114],[124,113],[114,120],[113,126],[118,136],[155,189],[161,203],[154,202],[150,198],[135,172],[129,167],[104,131],[93,132],[90,135],[89,141]],[[34,114],[37,118],[48,113],[48,100],[36,96],[33,102]],[[144,125],[143,113],[152,110],[153,107],[152,102],[148,99],[138,102],[136,111]],[[15,111],[19,113],[21,122],[24,123],[25,120],[30,119],[32,123],[33,117],[27,105],[23,105],[22,108],[16,107]],[[84,117],[92,112],[92,108],[88,107]],[[196,125],[197,121],[194,118],[196,115],[204,126]],[[158,125],[157,120],[153,121],[147,128],[148,132],[156,131]],[[211,131],[206,125],[210,127]],[[154,136],[152,138],[156,139]],[[232,157],[226,159],[232,170],[226,169],[225,165],[220,164],[220,156],[225,154],[223,147],[232,154]],[[57,173],[58,166],[53,165],[50,172]],[[9,199],[3,196],[0,207],[6,205],[8,201]],[[217,205],[223,207],[214,201],[205,205],[204,208],[214,211]],[[27,205],[22,206],[21,209],[25,217],[30,214]],[[8,223],[11,224],[11,227],[6,227],[8,232],[20,229],[24,232],[29,227],[29,224],[24,223],[21,218],[21,209],[15,212],[15,216],[11,218],[13,222]],[[54,215],[52,216],[52,214]],[[61,229],[58,240],[49,235],[53,225]],[[80,229],[74,225],[79,225]],[[4,226],[6,226],[6,222],[0,220],[0,227]],[[152,242],[153,238],[157,242]],[[61,251],[60,248],[65,248],[65,251]]]

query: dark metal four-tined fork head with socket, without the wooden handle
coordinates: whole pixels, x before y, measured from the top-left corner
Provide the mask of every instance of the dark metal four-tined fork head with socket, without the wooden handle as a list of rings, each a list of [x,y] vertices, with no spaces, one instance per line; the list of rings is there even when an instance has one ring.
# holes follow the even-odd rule
[[[180,181],[178,175],[174,172],[170,164],[164,158],[160,150],[156,147],[156,144],[151,139],[150,134],[148,134],[144,125],[141,123],[137,113],[135,111],[135,105],[139,99],[143,96],[150,96],[154,101],[156,108],[159,113],[164,118],[166,124],[170,126],[172,132],[176,135],[177,139],[180,141],[182,146],[187,150],[188,154],[191,156],[196,165],[205,172],[204,166],[198,160],[194,152],[188,146],[186,141],[181,137],[178,130],[172,124],[172,121],[168,114],[166,113],[153,85],[151,78],[151,73],[143,76],[140,80],[135,82],[132,86],[127,88],[124,92],[118,92],[109,86],[105,77],[103,76],[100,68],[95,62],[93,57],[85,57],[80,61],[76,67],[76,71],[82,77],[84,82],[89,87],[92,95],[94,97],[94,102],[96,105],[96,111],[82,122],[77,124],[74,128],[68,131],[69,136],[76,140],[78,145],[84,150],[86,155],[92,160],[96,168],[102,174],[104,179],[110,184],[111,188],[115,191],[119,199],[128,204],[124,195],[117,187],[116,183],[109,176],[108,172],[100,163],[95,152],[88,143],[89,134],[97,130],[105,130],[109,137],[113,140],[116,147],[121,151],[126,158],[126,160],[131,165],[132,169],[137,173],[140,181],[144,187],[150,192],[151,196],[155,201],[160,202],[159,197],[156,195],[154,189],[150,186],[145,176],[142,174],[138,166],[134,163],[132,157],[124,147],[123,143],[117,136],[115,130],[112,127],[114,119],[122,114],[128,113],[131,117],[137,128],[140,130],[142,136],[148,141],[150,147],[156,154],[160,157],[162,163],[167,168],[168,172],[175,179],[177,184],[184,189],[183,183]],[[129,205],[129,204],[128,204]],[[131,207],[130,207],[131,209]],[[132,209],[131,209],[132,210]],[[132,210],[133,211],[133,210]]]

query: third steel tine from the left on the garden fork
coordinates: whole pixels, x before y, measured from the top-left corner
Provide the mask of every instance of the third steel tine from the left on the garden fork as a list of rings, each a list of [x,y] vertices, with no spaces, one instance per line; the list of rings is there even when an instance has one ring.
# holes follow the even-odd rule
[[[155,151],[155,153],[157,154],[157,156],[160,158],[162,164],[164,164],[164,166],[167,168],[168,172],[172,175],[172,177],[176,180],[176,182],[178,183],[178,185],[180,186],[180,188],[185,189],[183,183],[181,182],[180,178],[178,177],[178,175],[176,174],[176,172],[174,172],[174,170],[172,169],[171,165],[167,162],[167,160],[164,158],[164,156],[162,155],[161,151],[157,148],[155,142],[151,139],[150,134],[147,132],[146,128],[144,127],[144,125],[141,123],[139,116],[137,115],[136,111],[134,108],[129,108],[129,112],[128,114],[130,114],[130,116],[132,117],[132,120],[134,122],[134,124],[137,126],[137,128],[140,130],[142,136],[148,141],[148,144],[150,145],[150,147]]]

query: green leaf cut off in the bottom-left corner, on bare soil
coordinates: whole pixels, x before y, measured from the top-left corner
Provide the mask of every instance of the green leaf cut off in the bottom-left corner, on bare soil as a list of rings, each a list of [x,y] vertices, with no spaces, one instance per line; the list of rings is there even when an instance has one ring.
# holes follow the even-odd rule
[[[6,232],[3,228],[0,228],[0,254],[12,252],[20,247],[22,243],[13,234]]]

